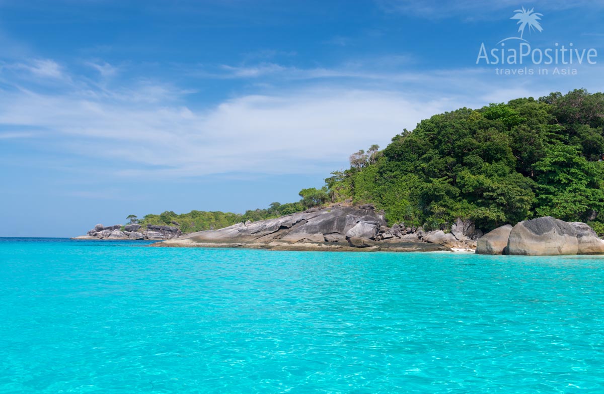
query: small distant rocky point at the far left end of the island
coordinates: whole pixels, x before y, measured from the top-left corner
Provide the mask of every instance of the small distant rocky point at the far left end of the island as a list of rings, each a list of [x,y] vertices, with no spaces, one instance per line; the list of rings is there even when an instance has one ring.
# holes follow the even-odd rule
[[[86,235],[71,238],[72,240],[150,240],[164,241],[172,238],[181,237],[182,232],[178,227],[156,226],[147,224],[143,229],[140,224],[115,224],[115,226],[103,226],[97,224],[94,229],[88,230]]]

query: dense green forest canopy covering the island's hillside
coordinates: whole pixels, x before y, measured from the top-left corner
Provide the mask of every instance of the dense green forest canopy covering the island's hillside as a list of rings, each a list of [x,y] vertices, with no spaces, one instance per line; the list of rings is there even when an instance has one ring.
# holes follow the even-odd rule
[[[389,224],[425,229],[446,229],[457,217],[490,230],[551,215],[602,232],[603,154],[604,94],[519,98],[425,119],[384,150],[352,154],[348,170],[333,172],[321,189],[303,189],[300,202],[243,215],[164,212],[143,223],[176,222],[191,232],[352,200],[384,209]]]

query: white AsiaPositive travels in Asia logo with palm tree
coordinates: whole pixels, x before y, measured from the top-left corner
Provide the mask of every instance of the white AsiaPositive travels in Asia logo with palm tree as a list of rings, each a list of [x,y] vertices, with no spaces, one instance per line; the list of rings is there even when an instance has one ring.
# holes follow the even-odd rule
[[[543,14],[522,7],[515,10],[510,19],[518,21],[519,36],[500,40],[492,48],[481,43],[476,59],[477,65],[524,66],[521,68],[495,68],[498,75],[576,75],[576,66],[595,65],[598,52],[595,48],[576,48],[573,42],[558,43],[534,48],[525,38],[533,33],[542,33]],[[528,33],[528,34],[526,34]],[[538,66],[537,68],[529,66]]]

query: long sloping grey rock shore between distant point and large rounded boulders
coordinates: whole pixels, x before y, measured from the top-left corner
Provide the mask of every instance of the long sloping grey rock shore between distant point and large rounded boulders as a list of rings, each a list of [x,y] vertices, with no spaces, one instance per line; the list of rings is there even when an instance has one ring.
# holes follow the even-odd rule
[[[253,223],[237,223],[173,238],[157,247],[248,247],[275,250],[364,250],[430,252],[474,250],[482,232],[471,221],[457,220],[451,233],[426,232],[404,223],[388,227],[373,205],[313,208]]]

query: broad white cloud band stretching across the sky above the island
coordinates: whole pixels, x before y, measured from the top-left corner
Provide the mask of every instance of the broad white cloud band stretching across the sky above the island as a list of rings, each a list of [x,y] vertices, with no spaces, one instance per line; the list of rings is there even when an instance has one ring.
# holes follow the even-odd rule
[[[532,79],[498,77],[482,68],[380,72],[362,62],[338,69],[251,70],[263,67],[277,72],[281,84],[210,107],[188,103],[191,91],[169,83],[135,81],[110,89],[64,75],[75,82],[61,91],[3,92],[0,125],[40,132],[40,148],[89,165],[89,171],[101,170],[102,160],[103,171],[123,176],[326,174],[344,166],[351,152],[374,143],[385,147],[403,128],[435,113],[580,86],[602,89],[594,86],[599,68],[586,68],[581,77]],[[275,79],[261,71],[226,72],[259,82]],[[322,79],[288,83],[313,77]]]

